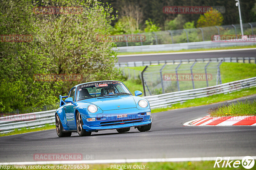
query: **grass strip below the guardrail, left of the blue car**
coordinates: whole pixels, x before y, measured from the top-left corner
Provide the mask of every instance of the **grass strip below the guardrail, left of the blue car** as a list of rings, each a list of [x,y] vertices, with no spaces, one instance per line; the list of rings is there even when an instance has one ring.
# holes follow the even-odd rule
[[[49,130],[49,129],[55,129],[55,124],[51,124],[51,125],[46,124],[43,127],[36,127],[33,129],[30,129],[30,128],[14,129],[14,131],[12,131],[12,132],[0,134],[0,137],[1,136],[9,136],[9,135],[17,135],[17,134],[33,132],[33,131],[44,131],[44,130]]]

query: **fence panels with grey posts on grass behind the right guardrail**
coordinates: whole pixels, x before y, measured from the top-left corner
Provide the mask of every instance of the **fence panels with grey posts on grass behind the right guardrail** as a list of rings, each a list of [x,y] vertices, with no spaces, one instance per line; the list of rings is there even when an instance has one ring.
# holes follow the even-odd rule
[[[146,66],[141,73],[144,94],[159,95],[221,84],[221,63],[222,61],[195,61]]]

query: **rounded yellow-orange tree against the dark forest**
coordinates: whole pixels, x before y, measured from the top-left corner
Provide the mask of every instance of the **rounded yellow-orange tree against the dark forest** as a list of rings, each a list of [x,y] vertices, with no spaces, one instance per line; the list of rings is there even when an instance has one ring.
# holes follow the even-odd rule
[[[197,20],[197,27],[215,26],[221,25],[223,22],[223,16],[215,9],[207,11],[204,15],[201,15]]]

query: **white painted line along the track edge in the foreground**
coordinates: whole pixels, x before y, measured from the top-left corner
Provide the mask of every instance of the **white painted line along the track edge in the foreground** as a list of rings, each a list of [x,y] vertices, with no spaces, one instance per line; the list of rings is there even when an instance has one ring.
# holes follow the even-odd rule
[[[149,159],[99,159],[99,160],[74,160],[74,161],[31,161],[31,162],[0,162],[0,165],[45,165],[45,164],[121,164],[133,162],[186,162],[186,161],[210,161],[217,157],[194,158],[149,158]],[[227,160],[229,157],[222,157]],[[244,156],[231,156],[229,160],[242,160]],[[252,156],[256,159],[256,156]]]

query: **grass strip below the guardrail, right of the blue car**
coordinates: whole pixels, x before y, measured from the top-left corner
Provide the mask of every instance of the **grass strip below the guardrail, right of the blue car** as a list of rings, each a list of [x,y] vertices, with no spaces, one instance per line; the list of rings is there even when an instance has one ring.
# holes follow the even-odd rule
[[[184,103],[173,104],[171,107],[152,109],[151,113],[168,111],[168,110],[172,110],[172,109],[193,107],[193,106],[201,106],[201,105],[212,104],[212,103],[218,103],[218,102],[232,100],[232,99],[236,99],[236,98],[243,97],[243,96],[249,96],[249,95],[253,95],[253,94],[256,94],[256,87],[243,89],[243,90],[236,91],[233,93],[228,93],[228,94],[219,94],[219,95],[212,95],[209,97],[192,99],[192,100],[188,100]]]

